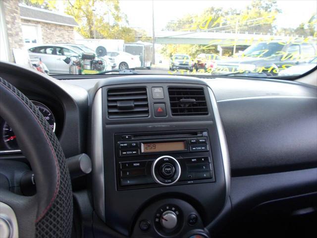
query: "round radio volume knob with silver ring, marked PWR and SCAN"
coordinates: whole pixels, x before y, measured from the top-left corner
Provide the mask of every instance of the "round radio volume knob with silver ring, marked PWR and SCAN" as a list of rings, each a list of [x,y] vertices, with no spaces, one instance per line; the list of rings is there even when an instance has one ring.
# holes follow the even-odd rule
[[[152,164],[152,177],[162,185],[171,185],[180,178],[181,168],[178,161],[171,156],[161,156]]]

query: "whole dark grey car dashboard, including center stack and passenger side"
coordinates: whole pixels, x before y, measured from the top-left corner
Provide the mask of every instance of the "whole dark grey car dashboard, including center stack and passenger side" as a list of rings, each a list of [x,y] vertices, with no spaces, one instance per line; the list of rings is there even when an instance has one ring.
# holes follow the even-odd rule
[[[206,238],[261,204],[317,197],[316,87],[176,75],[58,80],[13,67],[0,76],[53,114],[66,158],[92,160],[91,176],[73,181],[77,235]],[[23,161],[0,124],[0,159]]]

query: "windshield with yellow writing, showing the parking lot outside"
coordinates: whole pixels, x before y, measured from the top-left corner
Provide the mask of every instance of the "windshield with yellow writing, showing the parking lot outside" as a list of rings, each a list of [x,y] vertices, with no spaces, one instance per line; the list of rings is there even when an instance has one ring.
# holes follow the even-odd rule
[[[317,66],[316,0],[0,0],[0,8],[0,60],[49,75],[290,79]]]

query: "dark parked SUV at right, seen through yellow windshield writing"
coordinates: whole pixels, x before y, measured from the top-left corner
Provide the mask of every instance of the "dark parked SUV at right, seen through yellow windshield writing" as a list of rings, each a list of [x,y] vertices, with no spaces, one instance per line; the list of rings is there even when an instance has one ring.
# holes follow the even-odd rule
[[[305,63],[307,59],[315,56],[316,48],[313,44],[274,40],[270,43],[260,42],[251,45],[241,56],[219,61],[214,69],[216,74],[219,74],[239,70],[260,72],[262,68],[266,75],[277,75],[281,68]]]

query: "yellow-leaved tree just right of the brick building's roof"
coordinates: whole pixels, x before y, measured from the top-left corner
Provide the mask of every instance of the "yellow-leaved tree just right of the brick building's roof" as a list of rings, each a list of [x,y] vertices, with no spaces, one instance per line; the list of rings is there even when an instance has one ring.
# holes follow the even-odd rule
[[[135,40],[135,30],[128,27],[118,0],[66,0],[66,14],[75,18],[78,31],[85,38]],[[94,32],[95,31],[95,32]]]

